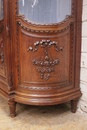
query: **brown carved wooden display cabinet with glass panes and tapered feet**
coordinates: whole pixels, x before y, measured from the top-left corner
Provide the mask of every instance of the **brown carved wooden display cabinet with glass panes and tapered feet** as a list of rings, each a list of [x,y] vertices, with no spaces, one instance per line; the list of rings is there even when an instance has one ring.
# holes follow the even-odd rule
[[[71,102],[80,92],[82,0],[0,0],[0,92],[16,103]]]

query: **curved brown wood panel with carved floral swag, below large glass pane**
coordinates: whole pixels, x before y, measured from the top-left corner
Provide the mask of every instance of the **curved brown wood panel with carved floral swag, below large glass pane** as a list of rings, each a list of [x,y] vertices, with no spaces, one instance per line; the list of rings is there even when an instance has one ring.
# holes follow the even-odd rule
[[[65,31],[44,37],[33,35],[18,24],[17,59],[18,82],[25,88],[72,84],[73,53],[71,25]],[[73,37],[72,37],[73,38]],[[72,60],[71,60],[72,59]],[[25,60],[25,62],[24,62]],[[71,76],[71,78],[70,78]],[[27,87],[28,86],[28,87]]]

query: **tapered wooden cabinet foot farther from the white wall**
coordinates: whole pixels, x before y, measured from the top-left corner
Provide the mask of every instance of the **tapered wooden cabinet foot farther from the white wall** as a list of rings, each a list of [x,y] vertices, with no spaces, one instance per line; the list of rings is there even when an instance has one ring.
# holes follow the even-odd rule
[[[10,116],[14,118],[16,116],[16,102],[13,99],[9,99],[8,101]]]

